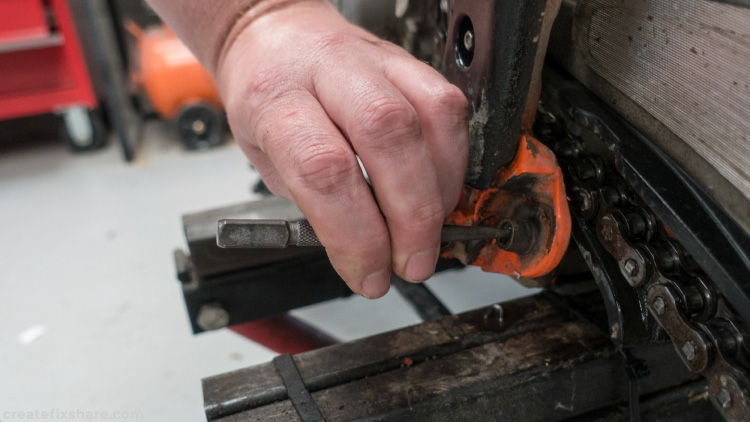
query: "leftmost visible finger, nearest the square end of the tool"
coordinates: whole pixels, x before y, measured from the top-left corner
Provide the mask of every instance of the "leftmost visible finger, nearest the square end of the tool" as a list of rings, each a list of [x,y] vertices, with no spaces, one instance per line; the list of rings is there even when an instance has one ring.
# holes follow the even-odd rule
[[[254,137],[336,272],[354,292],[383,296],[390,286],[390,238],[351,147],[307,92],[264,107]]]

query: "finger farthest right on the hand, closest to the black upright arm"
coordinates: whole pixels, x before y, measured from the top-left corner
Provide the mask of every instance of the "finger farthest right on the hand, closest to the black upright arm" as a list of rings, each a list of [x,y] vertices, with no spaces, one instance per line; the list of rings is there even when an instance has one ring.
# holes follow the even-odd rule
[[[463,92],[420,61],[393,57],[384,72],[414,106],[438,171],[443,207],[453,211],[469,156],[468,102]]]

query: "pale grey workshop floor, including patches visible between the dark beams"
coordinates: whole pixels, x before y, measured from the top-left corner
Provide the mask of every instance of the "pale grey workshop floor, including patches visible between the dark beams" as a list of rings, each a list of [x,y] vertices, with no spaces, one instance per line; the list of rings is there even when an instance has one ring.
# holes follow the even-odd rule
[[[274,356],[227,330],[194,337],[171,257],[182,213],[247,200],[257,175],[231,142],[186,152],[159,122],[145,138],[131,165],[116,145],[0,148],[1,421],[53,409],[203,421],[202,377]],[[428,284],[454,312],[531,293],[477,270]],[[295,314],[341,339],[419,321],[395,291]]]

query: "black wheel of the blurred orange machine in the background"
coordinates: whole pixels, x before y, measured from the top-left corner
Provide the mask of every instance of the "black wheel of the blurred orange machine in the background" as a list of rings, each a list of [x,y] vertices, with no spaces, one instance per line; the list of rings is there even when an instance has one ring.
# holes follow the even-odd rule
[[[218,146],[224,141],[224,115],[206,103],[185,106],[177,115],[177,134],[187,149]]]

